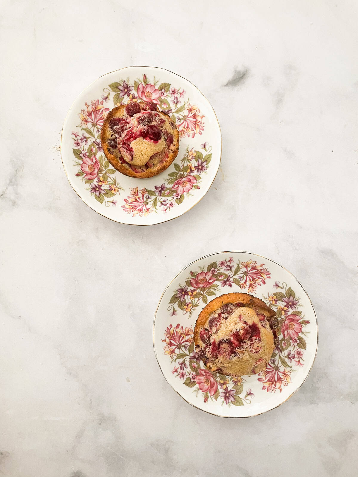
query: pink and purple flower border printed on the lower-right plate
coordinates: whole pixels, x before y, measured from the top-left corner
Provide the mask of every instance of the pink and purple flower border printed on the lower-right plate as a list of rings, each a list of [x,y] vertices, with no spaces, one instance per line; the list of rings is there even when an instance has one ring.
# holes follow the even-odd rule
[[[258,265],[253,260],[234,263],[232,257],[212,262],[199,272],[190,272],[185,286],[179,286],[171,297],[168,311],[170,316],[177,315],[174,303],[190,317],[192,311],[202,303],[208,302],[208,296],[215,296],[221,287],[232,287],[232,283],[241,289],[251,292],[271,278],[270,271],[264,264]],[[283,386],[292,382],[292,373],[295,367],[303,367],[306,349],[305,337],[309,332],[305,327],[310,321],[305,320],[299,297],[287,285],[276,281],[272,293],[263,295],[264,301],[276,312],[271,319],[270,326],[274,332],[274,353],[266,369],[258,373],[256,378],[263,391],[282,392]],[[173,364],[172,373],[193,392],[201,394],[204,402],[221,401],[223,405],[251,404],[254,394],[251,389],[243,393],[245,380],[242,377],[224,376],[211,372],[206,368],[194,349],[194,333],[192,327],[185,327],[180,323],[170,324],[165,332],[164,354],[168,355]]]

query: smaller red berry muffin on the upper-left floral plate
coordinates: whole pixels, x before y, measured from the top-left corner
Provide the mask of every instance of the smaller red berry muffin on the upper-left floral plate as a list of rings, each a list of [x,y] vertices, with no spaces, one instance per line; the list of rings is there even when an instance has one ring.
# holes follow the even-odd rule
[[[102,126],[106,158],[126,176],[157,176],[177,157],[179,133],[154,103],[131,101],[110,111]]]

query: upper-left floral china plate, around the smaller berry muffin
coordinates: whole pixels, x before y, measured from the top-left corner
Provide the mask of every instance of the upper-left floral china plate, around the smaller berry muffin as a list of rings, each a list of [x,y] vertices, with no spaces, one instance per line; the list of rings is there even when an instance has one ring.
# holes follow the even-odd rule
[[[103,153],[105,116],[129,101],[152,101],[177,125],[179,154],[158,176],[124,176]],[[117,222],[152,225],[179,217],[207,193],[220,165],[221,131],[211,104],[190,81],[131,66],[101,76],[78,96],[63,124],[61,155],[71,186],[89,207]]]

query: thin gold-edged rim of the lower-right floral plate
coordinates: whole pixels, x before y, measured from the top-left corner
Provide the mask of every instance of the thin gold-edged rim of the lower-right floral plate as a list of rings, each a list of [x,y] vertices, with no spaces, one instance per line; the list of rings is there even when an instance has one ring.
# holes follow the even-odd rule
[[[166,378],[165,374],[163,373],[163,370],[160,366],[160,363],[159,363],[159,360],[158,360],[158,355],[157,355],[157,352],[156,352],[156,348],[155,348],[155,343],[154,343],[154,327],[155,327],[155,322],[156,322],[156,318],[157,318],[157,311],[158,311],[158,308],[159,308],[159,305],[160,305],[160,302],[162,301],[162,298],[164,296],[164,293],[167,291],[168,287],[171,285],[171,283],[180,275],[180,273],[182,273],[184,270],[186,270],[188,267],[190,267],[191,265],[193,265],[194,263],[202,260],[202,259],[207,259],[208,257],[211,257],[212,255],[218,255],[218,254],[230,254],[230,253],[248,253],[250,255],[256,255],[257,257],[261,257],[265,260],[270,260],[271,262],[274,262],[276,265],[278,265],[279,267],[281,267],[282,269],[286,270],[287,273],[289,273],[295,280],[297,280],[297,278],[295,277],[295,275],[293,273],[291,273],[289,270],[287,270],[283,265],[281,265],[280,263],[277,263],[275,260],[273,259],[269,259],[267,257],[264,257],[263,255],[260,255],[259,253],[253,253],[253,252],[248,252],[246,250],[223,250],[223,251],[220,251],[220,252],[214,252],[214,253],[209,253],[208,255],[204,255],[203,257],[201,257],[200,259],[196,259],[194,260],[193,262],[189,263],[188,265],[186,265],[183,269],[181,269],[177,275],[172,279],[170,280],[170,282],[168,283],[168,285],[165,287],[163,293],[161,294],[160,298],[159,298],[159,301],[158,301],[158,306],[156,308],[156,311],[154,313],[154,320],[153,320],[153,350],[154,350],[154,354],[155,354],[155,357],[157,359],[157,363],[158,363],[158,366],[159,366],[159,369],[161,371],[161,373],[163,374],[164,376],[164,379],[166,380],[166,382],[169,384],[170,388],[175,391],[182,399],[184,399],[184,401],[188,404],[190,404],[191,406],[195,407],[196,409],[199,409],[199,411],[202,411],[203,413],[207,413],[207,414],[211,414],[211,415],[214,415],[214,416],[217,416],[217,417],[222,417],[222,418],[225,418],[225,419],[246,419],[248,417],[254,417],[254,416],[258,416],[258,415],[261,415],[261,414],[265,414],[265,413],[268,413],[270,411],[273,411],[274,409],[276,409],[277,407],[281,406],[282,404],[286,403],[290,397],[292,397],[296,391],[298,391],[300,389],[300,387],[305,383],[305,380],[308,378],[308,375],[309,373],[311,372],[312,368],[313,368],[313,365],[315,363],[315,360],[316,360],[316,356],[317,356],[317,349],[318,349],[318,321],[317,321],[317,314],[316,314],[316,310],[315,310],[315,307],[313,306],[313,303],[308,295],[308,293],[306,292],[304,286],[302,285],[302,283],[297,280],[297,282],[300,284],[300,286],[302,287],[302,290],[304,290],[309,302],[311,303],[311,306],[312,306],[312,310],[315,314],[315,319],[316,319],[316,330],[317,330],[317,343],[316,343],[316,350],[315,350],[315,356],[313,358],[313,361],[312,361],[312,364],[311,364],[311,367],[309,368],[306,376],[305,376],[305,379],[302,381],[302,383],[298,386],[297,389],[295,389],[295,391],[290,394],[284,401],[282,401],[282,403],[280,404],[277,404],[277,406],[274,406],[272,407],[271,409],[267,409],[266,411],[262,411],[260,413],[256,413],[256,414],[252,414],[252,415],[249,415],[249,416],[224,416],[224,415],[220,415],[220,414],[215,414],[215,413],[212,413],[210,411],[205,411],[205,409],[201,409],[200,407],[196,406],[195,404],[192,404],[190,403],[189,401],[187,401],[185,399],[185,397],[183,397],[177,390],[175,390],[173,388],[173,386],[169,383],[168,379]]]

